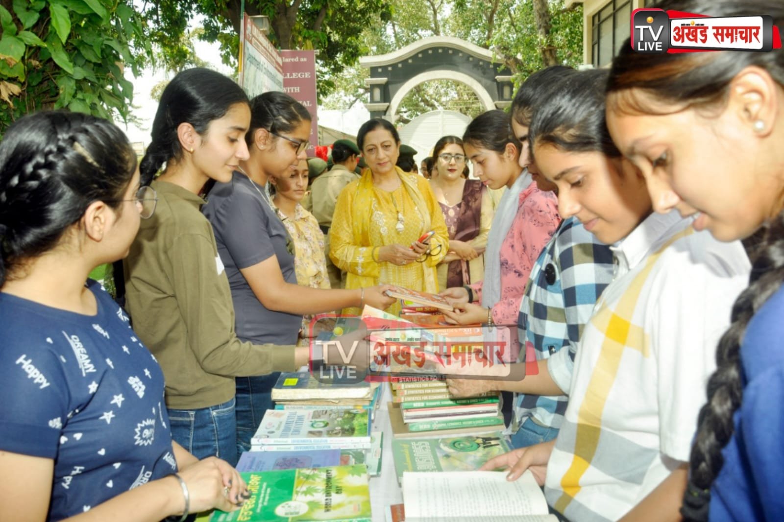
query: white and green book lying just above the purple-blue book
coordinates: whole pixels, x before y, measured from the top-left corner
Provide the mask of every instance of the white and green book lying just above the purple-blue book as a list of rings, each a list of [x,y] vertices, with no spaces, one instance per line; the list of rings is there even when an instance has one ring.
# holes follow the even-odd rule
[[[251,439],[253,445],[341,442],[370,442],[368,410],[267,410]]]

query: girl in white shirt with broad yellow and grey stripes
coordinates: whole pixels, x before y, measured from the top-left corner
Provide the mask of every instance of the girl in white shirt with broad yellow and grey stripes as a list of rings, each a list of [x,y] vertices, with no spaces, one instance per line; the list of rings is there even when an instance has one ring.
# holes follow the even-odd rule
[[[532,469],[570,520],[679,520],[705,382],[749,262],[739,241],[720,243],[677,212],[652,213],[641,173],[604,121],[607,78],[582,71],[557,85],[529,140],[561,216],[612,245],[615,278],[579,349],[542,361],[532,379],[540,389],[526,390],[569,395],[557,439],[485,466],[512,467],[510,479]]]

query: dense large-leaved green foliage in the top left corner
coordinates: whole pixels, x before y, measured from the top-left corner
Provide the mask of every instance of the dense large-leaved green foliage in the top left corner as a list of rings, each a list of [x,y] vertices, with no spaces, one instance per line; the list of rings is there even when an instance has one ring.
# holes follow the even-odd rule
[[[0,0],[0,136],[40,109],[127,120],[124,71],[151,58],[141,21],[132,0]]]

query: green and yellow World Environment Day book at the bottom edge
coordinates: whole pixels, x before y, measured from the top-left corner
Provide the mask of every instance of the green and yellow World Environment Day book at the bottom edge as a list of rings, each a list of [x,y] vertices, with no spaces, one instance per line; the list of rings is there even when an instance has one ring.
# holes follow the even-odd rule
[[[365,466],[241,473],[251,497],[237,511],[216,511],[211,522],[371,521]]]

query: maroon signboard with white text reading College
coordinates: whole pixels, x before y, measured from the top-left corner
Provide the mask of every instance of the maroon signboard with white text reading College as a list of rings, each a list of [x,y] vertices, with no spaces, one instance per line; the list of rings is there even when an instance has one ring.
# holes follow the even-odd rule
[[[283,58],[283,91],[302,103],[310,112],[310,147],[307,155],[316,154],[318,145],[318,101],[316,99],[316,53],[315,51],[281,50]]]

